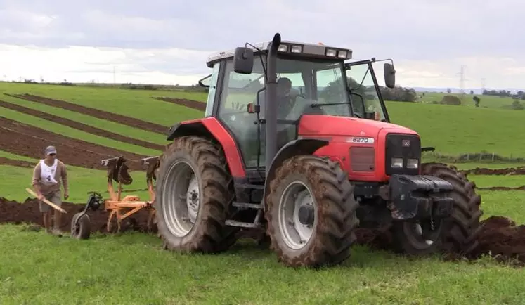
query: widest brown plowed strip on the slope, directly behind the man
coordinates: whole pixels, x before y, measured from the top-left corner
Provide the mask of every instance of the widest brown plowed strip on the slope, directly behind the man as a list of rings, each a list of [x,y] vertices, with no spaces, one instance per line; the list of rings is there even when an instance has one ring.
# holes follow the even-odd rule
[[[44,148],[55,145],[59,159],[67,165],[86,167],[90,169],[105,169],[101,160],[123,155],[129,161],[130,169],[143,170],[139,160],[143,155],[124,152],[114,148],[96,145],[86,141],[68,138],[51,131],[23,124],[12,119],[0,117],[1,149],[15,155],[40,159],[44,155]],[[6,145],[6,143],[9,143]]]

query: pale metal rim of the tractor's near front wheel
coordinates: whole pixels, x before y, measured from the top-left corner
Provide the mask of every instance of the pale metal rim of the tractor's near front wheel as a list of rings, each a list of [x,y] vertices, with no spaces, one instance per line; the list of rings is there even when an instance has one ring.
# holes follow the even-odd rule
[[[304,224],[299,221],[301,207],[313,209],[313,223]],[[280,233],[288,247],[299,250],[306,246],[317,224],[316,212],[317,204],[304,183],[295,181],[285,188],[279,201],[278,219]]]

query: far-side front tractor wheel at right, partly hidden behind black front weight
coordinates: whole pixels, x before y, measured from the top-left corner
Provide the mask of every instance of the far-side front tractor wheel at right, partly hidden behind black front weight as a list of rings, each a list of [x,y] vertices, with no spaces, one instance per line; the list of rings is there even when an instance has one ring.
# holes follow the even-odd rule
[[[421,174],[436,176],[452,183],[449,196],[454,199],[452,215],[439,223],[395,223],[394,242],[398,252],[420,255],[438,251],[468,256],[478,245],[481,231],[479,209],[481,197],[474,190],[474,183],[453,167],[441,163],[421,164]],[[430,227],[434,225],[434,230]],[[423,236],[427,235],[427,238]]]

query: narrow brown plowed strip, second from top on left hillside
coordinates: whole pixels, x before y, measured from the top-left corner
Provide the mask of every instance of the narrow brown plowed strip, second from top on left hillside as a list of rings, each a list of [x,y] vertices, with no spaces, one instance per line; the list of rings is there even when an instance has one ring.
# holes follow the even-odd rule
[[[58,124],[63,124],[65,126],[69,126],[71,128],[74,128],[74,129],[79,129],[79,130],[82,130],[82,131],[86,131],[89,134],[96,134],[97,136],[103,136],[105,138],[111,138],[111,139],[113,139],[115,141],[121,141],[121,142],[124,142],[124,143],[135,144],[135,145],[139,145],[139,146],[142,146],[142,147],[152,148],[152,149],[161,150],[161,151],[164,150],[164,146],[160,145],[160,144],[150,143],[150,142],[138,140],[136,138],[129,138],[128,136],[122,136],[120,134],[115,134],[115,133],[112,133],[110,131],[106,131],[106,130],[103,130],[103,129],[98,129],[98,128],[93,127],[93,126],[89,126],[89,125],[86,125],[86,124],[75,122],[75,121],[73,121],[71,119],[65,119],[64,117],[58,117],[56,115],[50,115],[50,114],[48,114],[46,112],[41,112],[39,110],[34,110],[34,109],[31,109],[31,108],[27,108],[27,107],[24,107],[22,105],[16,105],[16,104],[13,104],[13,103],[8,103],[8,102],[4,102],[3,100],[0,100],[0,106],[8,108],[8,109],[11,109],[11,110],[15,110],[15,111],[18,111],[18,112],[25,113],[26,115],[34,115],[35,117],[39,117],[41,119],[46,119],[46,120],[51,121],[51,122],[55,122],[55,123],[58,123]]]

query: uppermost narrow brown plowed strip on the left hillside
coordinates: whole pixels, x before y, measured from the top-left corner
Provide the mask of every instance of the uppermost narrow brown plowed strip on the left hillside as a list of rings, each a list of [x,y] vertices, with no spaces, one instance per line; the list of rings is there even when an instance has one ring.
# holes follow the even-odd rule
[[[141,119],[136,119],[134,117],[126,117],[124,115],[118,115],[116,113],[103,111],[96,108],[90,108],[86,106],[77,105],[74,103],[66,102],[64,100],[55,100],[53,98],[45,98],[43,96],[34,96],[32,94],[8,94],[4,93],[7,96],[13,96],[15,98],[22,98],[23,100],[30,100],[32,102],[36,103],[42,103],[45,105],[50,105],[53,107],[63,108],[66,110],[79,112],[84,115],[91,115],[91,117],[97,117],[98,119],[106,119],[111,122],[116,122],[119,124],[127,125],[130,127],[143,129],[147,131],[156,132],[158,134],[166,134],[168,131],[167,126],[151,123],[151,122],[145,122]]]

